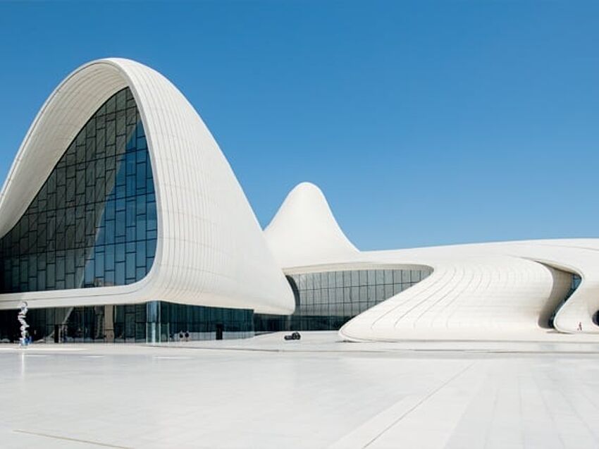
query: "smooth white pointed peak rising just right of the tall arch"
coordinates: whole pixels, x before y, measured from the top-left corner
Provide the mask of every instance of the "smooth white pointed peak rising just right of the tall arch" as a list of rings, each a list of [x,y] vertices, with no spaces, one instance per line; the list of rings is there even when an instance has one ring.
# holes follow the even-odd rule
[[[309,182],[293,187],[264,235],[283,268],[340,262],[359,252],[339,227],[322,190]]]

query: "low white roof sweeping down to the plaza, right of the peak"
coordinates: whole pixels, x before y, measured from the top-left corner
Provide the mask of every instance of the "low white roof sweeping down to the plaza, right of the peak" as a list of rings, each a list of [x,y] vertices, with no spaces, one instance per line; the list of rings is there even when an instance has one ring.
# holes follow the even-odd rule
[[[599,333],[599,239],[529,240],[363,252],[378,264],[424,264],[424,281],[354,317],[340,329],[350,340],[502,338],[553,326]],[[572,274],[581,284],[567,297]],[[580,330],[582,328],[582,330]]]

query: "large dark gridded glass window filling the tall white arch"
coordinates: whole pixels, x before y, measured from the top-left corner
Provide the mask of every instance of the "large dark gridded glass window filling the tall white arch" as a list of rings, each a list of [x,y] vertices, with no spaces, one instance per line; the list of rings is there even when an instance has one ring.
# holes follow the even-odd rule
[[[139,281],[154,262],[156,233],[144,127],[125,88],[89,118],[0,240],[0,293]]]

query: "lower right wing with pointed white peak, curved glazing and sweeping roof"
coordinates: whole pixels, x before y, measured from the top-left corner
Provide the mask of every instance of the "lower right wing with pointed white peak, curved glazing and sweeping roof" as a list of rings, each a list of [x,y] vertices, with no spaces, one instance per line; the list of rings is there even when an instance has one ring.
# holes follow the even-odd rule
[[[599,240],[359,252],[309,183],[290,192],[265,235],[297,285],[297,328],[326,326],[313,323],[326,304],[329,322],[355,341],[599,333]]]

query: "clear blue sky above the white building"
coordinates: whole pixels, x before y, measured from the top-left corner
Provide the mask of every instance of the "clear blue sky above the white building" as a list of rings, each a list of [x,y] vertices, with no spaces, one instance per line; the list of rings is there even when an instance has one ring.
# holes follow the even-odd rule
[[[599,2],[0,1],[0,173],[86,61],[166,75],[259,221],[309,180],[357,247],[599,237]]]

